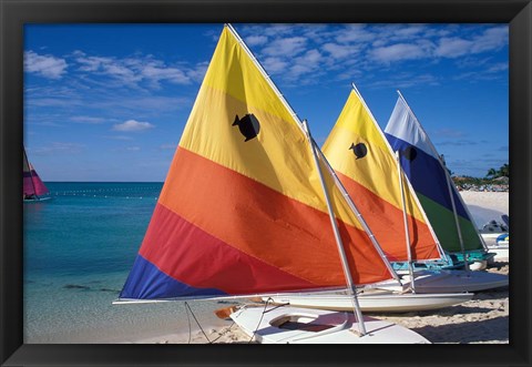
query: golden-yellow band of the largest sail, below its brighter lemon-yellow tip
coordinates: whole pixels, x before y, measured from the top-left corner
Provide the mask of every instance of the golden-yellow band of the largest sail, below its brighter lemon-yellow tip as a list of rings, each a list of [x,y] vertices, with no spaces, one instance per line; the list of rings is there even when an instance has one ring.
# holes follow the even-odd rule
[[[238,125],[233,125],[235,120],[246,118],[255,119],[259,124],[257,135],[249,140]],[[250,122],[244,120],[244,123]],[[206,135],[216,139],[198,139]],[[316,170],[299,126],[247,106],[222,91],[202,88],[180,146],[301,203],[323,212],[327,210],[319,200],[319,183],[301,185],[300,177],[308,180],[308,172]],[[286,154],[287,151],[297,151],[298,154]]]

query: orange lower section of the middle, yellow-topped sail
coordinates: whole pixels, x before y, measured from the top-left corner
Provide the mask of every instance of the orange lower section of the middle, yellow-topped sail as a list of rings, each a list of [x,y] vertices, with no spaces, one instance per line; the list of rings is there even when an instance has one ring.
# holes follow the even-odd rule
[[[395,224],[403,223],[403,212],[341,172],[336,171],[336,174],[346,187],[349,196],[352,197],[355,205],[362,214],[389,261],[408,261],[405,226],[399,227],[401,231],[393,231],[393,228],[397,228]],[[412,258],[439,258],[440,255],[433,243],[427,243],[423,246],[418,244],[419,237],[433,238],[427,224],[409,215],[408,226]]]

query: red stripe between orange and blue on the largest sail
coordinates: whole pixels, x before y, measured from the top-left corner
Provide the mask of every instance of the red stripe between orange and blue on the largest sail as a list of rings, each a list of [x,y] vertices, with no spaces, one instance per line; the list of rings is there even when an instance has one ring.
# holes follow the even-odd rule
[[[225,244],[157,204],[140,254],[174,279],[227,294],[316,288]]]

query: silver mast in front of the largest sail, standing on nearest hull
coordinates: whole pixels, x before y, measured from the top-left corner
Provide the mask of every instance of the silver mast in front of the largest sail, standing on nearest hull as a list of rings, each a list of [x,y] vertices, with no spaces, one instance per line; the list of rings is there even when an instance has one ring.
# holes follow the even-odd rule
[[[366,326],[364,325],[364,317],[360,310],[360,305],[358,304],[357,292],[352,283],[351,272],[349,271],[349,264],[347,262],[346,251],[344,248],[344,242],[341,241],[340,232],[338,230],[338,224],[336,223],[332,205],[330,204],[329,193],[327,191],[327,186],[325,185],[324,175],[319,166],[318,155],[316,154],[316,147],[313,143],[313,137],[310,135],[310,130],[308,129],[307,120],[303,120],[303,126],[305,128],[305,132],[307,134],[308,142],[310,144],[310,151],[313,152],[314,163],[316,164],[316,169],[318,171],[319,182],[321,183],[321,188],[324,190],[325,201],[327,202],[327,210],[329,211],[330,225],[332,227],[332,232],[335,233],[336,245],[338,247],[338,254],[340,255],[341,266],[344,267],[344,276],[346,277],[347,289],[352,302],[352,308],[355,310],[355,315],[357,315],[359,330],[361,335],[366,335]]]

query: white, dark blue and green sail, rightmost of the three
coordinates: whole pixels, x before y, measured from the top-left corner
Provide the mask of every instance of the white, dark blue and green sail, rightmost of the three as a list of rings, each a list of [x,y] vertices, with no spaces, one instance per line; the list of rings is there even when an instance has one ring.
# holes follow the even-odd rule
[[[385,129],[385,135],[393,151],[400,152],[405,173],[443,249],[450,253],[461,252],[453,205],[464,249],[483,249],[471,215],[440,162],[434,145],[401,95]]]

